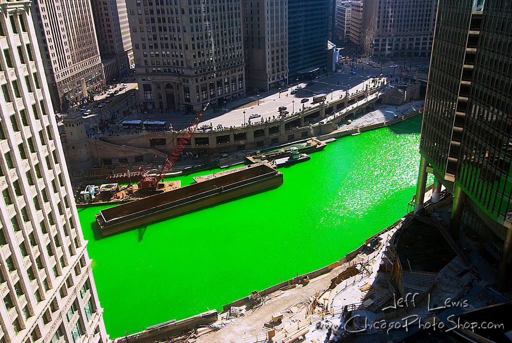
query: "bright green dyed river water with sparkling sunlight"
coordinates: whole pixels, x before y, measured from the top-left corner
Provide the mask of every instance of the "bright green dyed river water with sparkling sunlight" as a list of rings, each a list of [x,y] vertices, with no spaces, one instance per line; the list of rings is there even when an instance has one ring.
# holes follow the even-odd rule
[[[95,239],[78,209],[112,338],[182,319],[325,267],[407,212],[421,116],[348,136],[281,168],[284,184]],[[193,182],[180,177],[181,185]]]

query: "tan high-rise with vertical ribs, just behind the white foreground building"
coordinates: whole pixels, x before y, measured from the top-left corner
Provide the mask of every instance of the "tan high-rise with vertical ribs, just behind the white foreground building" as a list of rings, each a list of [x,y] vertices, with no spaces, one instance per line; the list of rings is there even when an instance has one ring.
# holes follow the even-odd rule
[[[54,109],[84,102],[104,82],[91,3],[35,0],[31,10]]]

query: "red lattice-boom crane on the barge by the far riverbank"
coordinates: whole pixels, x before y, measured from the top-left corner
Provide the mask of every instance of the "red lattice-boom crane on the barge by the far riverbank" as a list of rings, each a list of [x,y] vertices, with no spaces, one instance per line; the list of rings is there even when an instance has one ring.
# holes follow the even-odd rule
[[[183,148],[190,140],[190,137],[194,134],[194,132],[197,129],[197,126],[199,122],[201,121],[201,118],[203,117],[204,112],[206,112],[206,108],[208,107],[210,103],[206,103],[203,110],[199,112],[199,114],[194,118],[192,123],[188,126],[188,128],[185,130],[185,133],[181,136],[181,138],[178,140],[178,143],[176,144],[176,147],[174,147],[174,150],[170,153],[169,157],[165,160],[163,163],[162,169],[160,170],[160,175],[158,177],[151,176],[148,174],[142,167],[139,168],[139,170],[142,173],[142,179],[137,184],[137,187],[139,189],[156,189],[158,186],[158,183],[163,179],[163,176],[171,169],[173,168],[174,164],[178,160],[178,157],[180,156],[180,153],[183,151]]]

